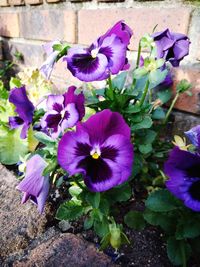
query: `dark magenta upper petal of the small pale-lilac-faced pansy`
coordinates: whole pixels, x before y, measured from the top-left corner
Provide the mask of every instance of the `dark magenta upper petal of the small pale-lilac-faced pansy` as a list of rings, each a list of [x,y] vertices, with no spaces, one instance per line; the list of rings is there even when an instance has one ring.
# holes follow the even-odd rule
[[[85,97],[82,92],[76,95],[75,90],[76,90],[75,86],[70,86],[68,88],[68,91],[63,95],[64,106],[67,106],[70,103],[74,103],[79,113],[79,120],[81,121],[82,118],[85,116],[85,106],[84,106]]]

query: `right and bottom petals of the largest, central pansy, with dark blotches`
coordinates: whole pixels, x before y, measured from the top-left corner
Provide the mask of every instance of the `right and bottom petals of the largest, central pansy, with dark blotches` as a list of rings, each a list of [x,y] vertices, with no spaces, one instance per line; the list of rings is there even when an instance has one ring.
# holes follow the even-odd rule
[[[90,157],[85,162],[85,183],[91,191],[106,191],[128,180],[132,164],[133,146],[130,140],[123,135],[112,135],[102,144],[101,157]]]

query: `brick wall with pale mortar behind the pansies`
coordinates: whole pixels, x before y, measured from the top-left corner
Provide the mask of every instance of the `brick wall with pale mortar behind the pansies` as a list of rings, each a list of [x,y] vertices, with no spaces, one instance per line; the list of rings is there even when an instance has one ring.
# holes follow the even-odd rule
[[[41,45],[52,39],[69,44],[88,45],[117,20],[125,20],[133,29],[130,58],[145,32],[170,28],[189,35],[190,55],[175,79],[193,83],[193,96],[184,95],[177,102],[179,110],[200,115],[200,1],[181,0],[0,0],[0,35],[6,58],[18,51],[23,65],[39,67],[44,58]],[[53,72],[57,84],[77,83],[60,61]]]

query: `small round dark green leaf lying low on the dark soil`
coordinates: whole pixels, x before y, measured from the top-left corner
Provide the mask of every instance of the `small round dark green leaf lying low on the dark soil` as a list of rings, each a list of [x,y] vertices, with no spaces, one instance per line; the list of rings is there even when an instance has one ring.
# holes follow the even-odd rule
[[[128,227],[139,231],[145,227],[145,220],[140,211],[129,211],[124,217],[124,222]]]

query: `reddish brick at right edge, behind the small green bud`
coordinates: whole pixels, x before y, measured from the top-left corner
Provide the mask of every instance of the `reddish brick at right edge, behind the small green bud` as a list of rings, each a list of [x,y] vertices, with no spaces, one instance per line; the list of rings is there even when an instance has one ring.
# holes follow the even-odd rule
[[[182,79],[192,84],[192,96],[182,94],[175,104],[175,108],[190,113],[200,114],[200,69],[174,69],[175,85]],[[175,88],[174,88],[175,91]]]

